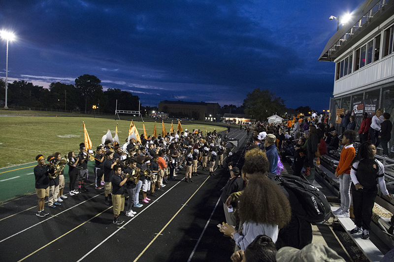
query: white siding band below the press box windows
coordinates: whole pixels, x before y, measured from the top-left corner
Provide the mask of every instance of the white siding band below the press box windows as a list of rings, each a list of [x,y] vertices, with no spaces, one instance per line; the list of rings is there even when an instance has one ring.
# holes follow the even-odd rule
[[[368,64],[350,75],[342,77],[334,83],[334,96],[340,96],[361,91],[374,84],[385,84],[381,82],[394,81],[394,54],[379,61]]]

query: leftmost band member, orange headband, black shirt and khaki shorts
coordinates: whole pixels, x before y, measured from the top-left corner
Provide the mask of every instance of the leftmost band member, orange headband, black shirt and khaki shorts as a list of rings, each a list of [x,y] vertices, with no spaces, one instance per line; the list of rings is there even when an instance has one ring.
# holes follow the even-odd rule
[[[37,166],[34,168],[35,193],[37,193],[38,197],[38,208],[35,215],[44,217],[49,215],[49,213],[44,210],[45,197],[49,196],[49,173],[47,166],[44,164],[45,159],[42,155],[37,155],[35,160],[37,160]]]

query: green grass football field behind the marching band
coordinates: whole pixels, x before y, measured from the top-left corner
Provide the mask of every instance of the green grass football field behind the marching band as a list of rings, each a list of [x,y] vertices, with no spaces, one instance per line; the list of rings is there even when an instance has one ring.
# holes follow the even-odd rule
[[[7,111],[7,115],[13,111]],[[0,114],[1,115],[1,114]],[[115,127],[118,123],[118,136],[123,144],[129,135],[129,120],[113,120],[93,117],[56,117],[56,116],[0,116],[0,168],[35,162],[37,154],[45,158],[54,152],[66,155],[69,151],[78,152],[79,143],[84,142],[83,123],[85,121],[93,149],[101,143],[101,137],[110,129],[115,136]],[[142,122],[133,121],[139,134],[143,133]],[[167,132],[170,123],[164,123]],[[153,134],[154,122],[145,122],[148,135]],[[162,133],[162,123],[156,124],[157,134]],[[177,122],[174,121],[176,130]],[[201,129],[218,132],[226,127],[208,124],[183,122],[185,130]]]

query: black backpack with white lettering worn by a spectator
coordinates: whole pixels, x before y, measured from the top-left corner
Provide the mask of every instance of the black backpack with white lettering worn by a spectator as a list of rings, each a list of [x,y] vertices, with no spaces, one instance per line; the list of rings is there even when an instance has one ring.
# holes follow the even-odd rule
[[[308,222],[321,224],[328,220],[331,208],[326,196],[317,187],[296,175],[276,175],[271,179],[280,182],[286,190],[291,190],[296,195]]]

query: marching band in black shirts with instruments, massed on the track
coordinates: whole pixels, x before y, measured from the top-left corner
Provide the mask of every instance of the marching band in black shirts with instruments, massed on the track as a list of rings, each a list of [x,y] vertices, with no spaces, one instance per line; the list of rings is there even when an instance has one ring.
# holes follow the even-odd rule
[[[132,136],[133,135],[133,136]],[[35,188],[38,197],[36,215],[44,217],[49,214],[44,210],[45,197],[48,206],[55,208],[67,197],[63,195],[65,187],[64,167],[68,165],[69,195],[75,196],[87,192],[84,181],[88,179],[88,161],[95,161],[95,189],[104,188],[104,204],[112,202],[114,211],[113,223],[120,225],[124,221],[119,218],[125,205],[125,191],[128,192],[126,216],[133,217],[136,212],[132,207],[142,207],[139,195],[142,190],[142,202],[148,204],[150,198],[157,197],[170,180],[177,180],[176,173],[185,167],[185,181],[193,182],[197,176],[197,163],[206,170],[209,162],[209,175],[214,174],[214,166],[223,168],[223,154],[226,147],[221,135],[208,132],[205,136],[200,130],[167,133],[164,137],[148,137],[141,135],[137,142],[135,134],[126,140],[123,146],[106,137],[96,151],[88,151],[84,143],[79,145],[79,153],[68,152],[62,158],[59,152],[48,156],[48,164],[44,157],[37,155],[37,166],[34,168]],[[77,188],[75,184],[77,183]],[[149,194],[149,195],[148,195]],[[149,198],[148,198],[149,196]]]

